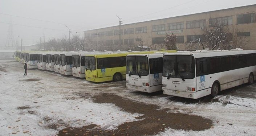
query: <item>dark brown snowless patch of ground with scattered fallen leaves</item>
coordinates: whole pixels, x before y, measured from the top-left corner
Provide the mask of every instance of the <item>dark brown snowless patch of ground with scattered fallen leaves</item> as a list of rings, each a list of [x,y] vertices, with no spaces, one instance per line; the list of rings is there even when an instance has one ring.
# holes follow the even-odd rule
[[[121,110],[143,114],[138,117],[139,121],[125,122],[114,130],[102,130],[95,128],[86,130],[84,128],[69,128],[60,130],[58,136],[62,135],[155,135],[165,129],[182,129],[192,131],[202,131],[212,127],[210,119],[196,115],[181,113],[167,113],[169,109],[158,110],[159,107],[153,104],[134,102],[133,100],[122,98],[115,94],[100,94],[93,97],[95,103],[113,103]],[[65,132],[65,133],[64,133]]]

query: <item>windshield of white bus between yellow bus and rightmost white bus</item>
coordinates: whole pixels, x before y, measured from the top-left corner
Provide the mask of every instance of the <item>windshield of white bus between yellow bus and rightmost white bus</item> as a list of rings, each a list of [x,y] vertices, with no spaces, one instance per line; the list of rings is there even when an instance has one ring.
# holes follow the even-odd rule
[[[127,56],[126,74],[146,76],[149,75],[149,60],[146,56]]]

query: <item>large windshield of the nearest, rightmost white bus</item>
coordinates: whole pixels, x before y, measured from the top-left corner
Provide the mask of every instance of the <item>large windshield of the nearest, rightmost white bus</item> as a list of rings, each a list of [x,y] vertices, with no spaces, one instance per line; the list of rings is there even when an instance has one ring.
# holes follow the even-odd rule
[[[193,79],[195,77],[195,60],[190,55],[163,56],[163,77]]]

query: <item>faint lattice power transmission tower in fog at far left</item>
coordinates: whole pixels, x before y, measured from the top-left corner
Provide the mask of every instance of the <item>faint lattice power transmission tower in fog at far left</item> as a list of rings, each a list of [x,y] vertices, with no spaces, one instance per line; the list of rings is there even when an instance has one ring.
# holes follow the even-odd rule
[[[15,49],[15,40],[13,37],[13,31],[12,31],[12,18],[10,20],[10,25],[9,25],[9,29],[8,29],[8,35],[7,35],[7,39],[5,42],[5,46],[4,49]]]

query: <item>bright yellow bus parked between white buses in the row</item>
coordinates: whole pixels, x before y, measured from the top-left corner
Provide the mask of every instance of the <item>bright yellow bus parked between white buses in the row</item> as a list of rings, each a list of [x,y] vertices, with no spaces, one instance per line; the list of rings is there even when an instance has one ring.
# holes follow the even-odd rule
[[[122,81],[126,78],[126,55],[174,53],[176,50],[141,51],[85,56],[85,79],[92,82]]]

